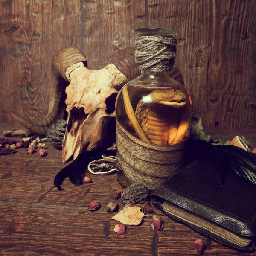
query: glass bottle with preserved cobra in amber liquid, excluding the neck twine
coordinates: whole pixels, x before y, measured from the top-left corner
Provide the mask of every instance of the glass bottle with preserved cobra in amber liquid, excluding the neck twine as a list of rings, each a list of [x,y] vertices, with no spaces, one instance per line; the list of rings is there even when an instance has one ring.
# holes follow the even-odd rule
[[[135,31],[138,36],[177,35],[177,30],[163,28]],[[150,41],[146,44],[151,46]],[[154,50],[159,48],[153,49],[152,55]],[[161,63],[158,65],[161,67]],[[172,58],[166,68],[174,65]],[[118,180],[125,187],[140,181],[154,189],[183,167],[183,154],[173,154],[183,152],[189,138],[191,101],[185,87],[169,73],[166,69],[143,69],[140,76],[122,87],[116,98]]]

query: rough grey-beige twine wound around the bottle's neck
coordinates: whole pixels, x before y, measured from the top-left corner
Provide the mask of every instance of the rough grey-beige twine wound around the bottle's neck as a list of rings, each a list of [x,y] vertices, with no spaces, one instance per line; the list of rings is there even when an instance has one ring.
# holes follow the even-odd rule
[[[135,61],[140,70],[171,70],[175,64],[176,44],[177,39],[172,35],[138,35],[135,41]]]

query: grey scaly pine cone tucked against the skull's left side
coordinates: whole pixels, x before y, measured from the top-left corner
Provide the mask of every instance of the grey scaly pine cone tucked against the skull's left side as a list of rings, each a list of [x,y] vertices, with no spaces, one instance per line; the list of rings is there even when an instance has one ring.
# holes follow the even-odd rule
[[[67,121],[60,120],[48,130],[46,137],[55,148],[62,149],[62,140],[64,139],[66,126]]]

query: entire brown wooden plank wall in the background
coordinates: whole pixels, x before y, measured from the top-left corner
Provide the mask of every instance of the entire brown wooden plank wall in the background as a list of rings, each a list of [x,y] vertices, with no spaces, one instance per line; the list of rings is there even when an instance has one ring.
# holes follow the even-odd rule
[[[176,63],[205,128],[256,130],[255,0],[1,0],[0,122],[47,113],[57,50],[76,44],[99,69],[143,26],[179,29]]]

